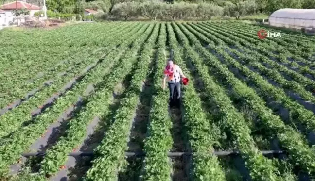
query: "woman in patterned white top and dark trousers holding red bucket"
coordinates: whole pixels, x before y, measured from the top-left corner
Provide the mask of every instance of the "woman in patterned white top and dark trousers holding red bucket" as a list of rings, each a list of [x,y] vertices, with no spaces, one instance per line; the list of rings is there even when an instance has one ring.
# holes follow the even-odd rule
[[[164,69],[163,90],[165,90],[165,82],[168,81],[168,87],[170,90],[170,103],[172,104],[175,99],[180,98],[180,80],[186,78],[181,68],[176,65],[172,60],[167,61],[167,65]],[[176,91],[176,95],[175,95]]]

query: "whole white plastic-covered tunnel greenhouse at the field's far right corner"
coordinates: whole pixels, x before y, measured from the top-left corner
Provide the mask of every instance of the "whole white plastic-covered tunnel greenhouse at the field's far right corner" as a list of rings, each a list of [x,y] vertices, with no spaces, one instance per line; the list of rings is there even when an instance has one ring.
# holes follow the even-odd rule
[[[280,9],[269,16],[269,25],[295,29],[315,28],[315,9]]]

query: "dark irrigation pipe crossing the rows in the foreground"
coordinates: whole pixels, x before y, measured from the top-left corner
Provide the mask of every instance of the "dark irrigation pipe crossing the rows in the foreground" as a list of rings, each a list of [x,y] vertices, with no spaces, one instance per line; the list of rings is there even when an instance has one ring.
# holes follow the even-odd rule
[[[230,156],[230,155],[239,155],[240,151],[214,151],[214,152],[208,152],[204,154],[214,154],[216,156]],[[263,155],[267,154],[281,154],[285,153],[285,151],[282,150],[265,150],[262,151]],[[75,153],[69,153],[68,156],[77,157],[77,156],[94,156],[94,152],[75,152]],[[189,155],[197,155],[201,153],[192,153],[192,152],[169,152],[167,153],[168,157],[181,157],[181,156],[189,156]],[[32,153],[22,153],[21,154],[24,157],[41,157],[45,156],[46,152],[32,152]],[[126,157],[144,157],[144,152],[125,152]]]

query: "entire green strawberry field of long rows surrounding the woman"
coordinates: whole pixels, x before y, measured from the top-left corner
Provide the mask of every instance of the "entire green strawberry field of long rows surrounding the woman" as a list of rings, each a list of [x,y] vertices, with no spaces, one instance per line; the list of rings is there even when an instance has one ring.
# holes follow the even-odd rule
[[[315,180],[315,37],[240,21],[0,36],[1,181]],[[169,58],[190,80],[180,109]]]

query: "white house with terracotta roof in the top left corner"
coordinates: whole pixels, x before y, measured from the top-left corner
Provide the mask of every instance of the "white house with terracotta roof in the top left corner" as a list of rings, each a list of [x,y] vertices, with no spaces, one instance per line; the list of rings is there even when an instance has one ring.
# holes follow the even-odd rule
[[[14,1],[7,4],[3,4],[0,6],[1,12],[0,12],[0,26],[2,25],[10,25],[17,23],[17,17],[14,15],[14,11],[17,9],[27,9],[30,11],[30,16],[34,16],[36,12],[39,12],[41,8],[39,6],[26,3],[24,1]],[[2,17],[2,14],[4,12],[4,18]],[[19,17],[19,22],[23,22],[24,18]]]

